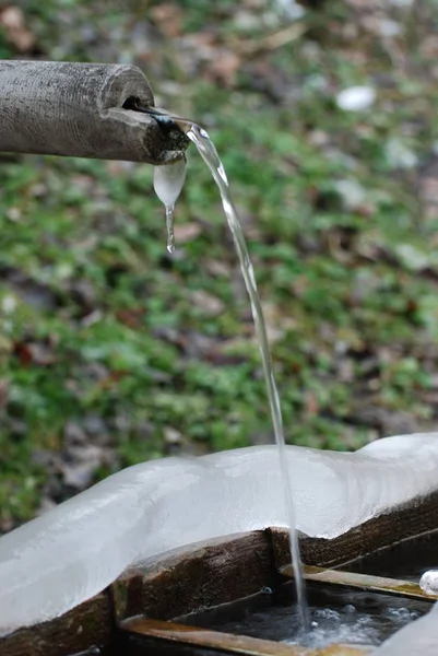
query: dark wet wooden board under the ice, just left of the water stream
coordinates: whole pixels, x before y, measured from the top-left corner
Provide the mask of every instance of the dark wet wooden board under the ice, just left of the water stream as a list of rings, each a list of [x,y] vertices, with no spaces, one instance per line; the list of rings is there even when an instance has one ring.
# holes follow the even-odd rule
[[[168,620],[200,607],[247,597],[280,582],[270,535],[253,531],[211,540],[128,570],[113,587],[119,602],[118,619],[146,613]]]

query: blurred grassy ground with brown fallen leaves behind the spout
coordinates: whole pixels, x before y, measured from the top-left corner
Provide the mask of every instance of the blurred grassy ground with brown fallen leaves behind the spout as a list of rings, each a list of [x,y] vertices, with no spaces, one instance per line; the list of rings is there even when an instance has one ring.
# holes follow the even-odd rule
[[[0,57],[135,63],[209,130],[289,443],[438,427],[435,0],[27,0],[0,5]],[[169,256],[151,166],[1,155],[0,531],[141,460],[272,441],[218,195],[188,160]]]

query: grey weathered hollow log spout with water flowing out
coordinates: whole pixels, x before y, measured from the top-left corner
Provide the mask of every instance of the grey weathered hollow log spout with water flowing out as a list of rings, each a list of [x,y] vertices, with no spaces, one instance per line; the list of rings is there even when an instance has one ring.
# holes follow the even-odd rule
[[[0,151],[167,164],[189,141],[135,106],[153,107],[128,65],[0,61]]]

